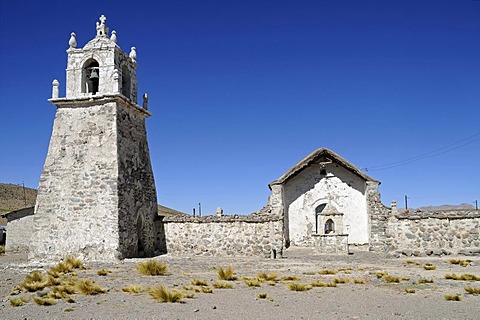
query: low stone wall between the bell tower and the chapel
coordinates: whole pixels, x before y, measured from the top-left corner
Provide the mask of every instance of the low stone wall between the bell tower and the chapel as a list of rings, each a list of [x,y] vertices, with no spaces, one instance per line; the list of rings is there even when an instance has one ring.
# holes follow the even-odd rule
[[[163,224],[169,254],[279,258],[283,250],[278,216],[165,217]]]

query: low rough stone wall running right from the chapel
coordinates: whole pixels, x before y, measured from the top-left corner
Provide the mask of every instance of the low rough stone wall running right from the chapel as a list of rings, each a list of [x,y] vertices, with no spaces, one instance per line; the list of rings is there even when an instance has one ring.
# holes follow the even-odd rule
[[[390,216],[386,245],[407,256],[480,254],[480,213],[470,211],[413,212]]]

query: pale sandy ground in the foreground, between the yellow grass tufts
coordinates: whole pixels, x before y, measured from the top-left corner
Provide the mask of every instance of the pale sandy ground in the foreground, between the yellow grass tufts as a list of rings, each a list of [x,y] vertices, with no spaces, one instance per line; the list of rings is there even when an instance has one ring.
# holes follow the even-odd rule
[[[156,260],[169,266],[167,276],[143,276],[136,270],[142,259],[115,264],[91,263],[87,270],[77,271],[79,278],[90,278],[109,291],[95,296],[74,294],[74,303],[58,300],[56,305],[39,306],[33,301],[19,307],[10,304],[11,290],[32,270],[49,266],[27,263],[24,256],[0,257],[0,319],[480,319],[480,295],[467,294],[464,287],[480,288],[480,282],[445,279],[447,273],[470,273],[480,276],[480,257],[385,258],[373,253],[356,252],[349,256],[312,255],[309,250],[289,251],[277,260],[262,258],[211,258],[160,256]],[[462,267],[450,259],[473,260]],[[408,264],[414,261],[418,264]],[[436,270],[423,268],[434,264]],[[154,287],[166,285],[182,289],[192,279],[217,281],[218,267],[232,266],[239,279],[233,289],[213,289],[213,293],[195,292],[183,303],[159,303],[146,292],[131,294],[122,291],[129,284]],[[112,273],[97,275],[106,268]],[[318,271],[342,269],[335,275]],[[377,272],[405,278],[400,283],[387,283]],[[334,288],[314,287],[304,292],[291,291],[287,282],[275,286],[263,283],[248,287],[242,277],[259,272],[277,273],[279,277],[295,275],[299,283],[335,278],[348,278],[347,284]],[[409,280],[406,280],[409,278]],[[418,284],[419,278],[434,279],[432,284]],[[365,284],[354,284],[354,279]],[[211,287],[211,285],[210,285]],[[405,289],[415,289],[406,293]],[[193,290],[188,291],[193,293]],[[266,293],[266,299],[258,298]],[[446,301],[445,295],[461,294],[461,301]],[[27,295],[27,294],[22,294]],[[32,294],[30,294],[32,295]]]

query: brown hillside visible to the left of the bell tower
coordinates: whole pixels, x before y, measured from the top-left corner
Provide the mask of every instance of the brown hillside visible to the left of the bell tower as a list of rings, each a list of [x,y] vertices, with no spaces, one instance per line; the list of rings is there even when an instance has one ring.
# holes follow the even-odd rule
[[[0,183],[0,213],[33,207],[37,190],[15,184]]]

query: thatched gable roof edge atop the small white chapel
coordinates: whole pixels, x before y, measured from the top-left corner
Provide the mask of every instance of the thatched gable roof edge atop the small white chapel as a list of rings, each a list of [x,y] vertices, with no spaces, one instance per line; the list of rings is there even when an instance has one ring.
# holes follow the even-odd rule
[[[338,164],[345,169],[349,170],[353,174],[361,177],[365,181],[374,181],[374,182],[379,182],[378,180],[373,179],[372,177],[366,175],[364,172],[362,172],[359,168],[355,167],[353,164],[345,160],[344,158],[340,157],[338,154],[333,152],[332,150],[328,150],[325,148],[320,148],[315,150],[314,152],[310,153],[307,157],[305,157],[303,160],[298,162],[296,165],[294,165],[290,170],[285,172],[280,178],[277,180],[271,182],[268,186],[276,185],[276,184],[284,184],[287,180],[290,178],[293,178],[297,174],[299,174],[303,169],[307,168],[311,164],[314,163],[319,163],[322,161],[331,161],[335,164]]]

